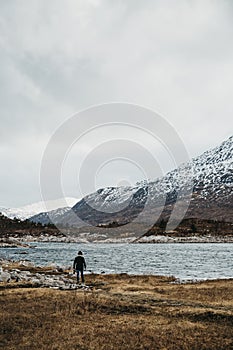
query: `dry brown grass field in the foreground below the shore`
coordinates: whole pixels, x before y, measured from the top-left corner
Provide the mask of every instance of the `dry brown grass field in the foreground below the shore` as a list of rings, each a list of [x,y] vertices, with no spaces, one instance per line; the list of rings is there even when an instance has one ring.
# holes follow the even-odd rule
[[[1,291],[3,349],[233,349],[233,280],[89,275],[92,291]]]

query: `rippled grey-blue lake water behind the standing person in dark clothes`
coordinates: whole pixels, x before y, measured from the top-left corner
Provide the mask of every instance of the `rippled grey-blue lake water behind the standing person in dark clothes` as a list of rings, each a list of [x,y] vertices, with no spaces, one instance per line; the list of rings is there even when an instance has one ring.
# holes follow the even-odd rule
[[[233,278],[232,243],[77,244],[31,243],[31,248],[0,248],[0,258],[69,267],[82,250],[87,270],[175,276],[181,280]],[[25,254],[26,253],[26,254]]]

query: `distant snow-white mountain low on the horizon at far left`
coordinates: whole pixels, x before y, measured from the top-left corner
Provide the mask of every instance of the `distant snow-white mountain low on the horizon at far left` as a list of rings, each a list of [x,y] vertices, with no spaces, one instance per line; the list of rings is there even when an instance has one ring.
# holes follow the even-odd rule
[[[61,207],[64,207],[64,203],[67,203],[66,209],[69,209],[75,203],[77,203],[77,198],[66,197],[48,201],[46,204],[45,202],[41,201],[20,208],[0,207],[0,212],[10,219],[14,219],[16,217],[17,219],[25,220],[39,213],[46,212],[48,208],[49,210],[60,209]],[[64,212],[65,210],[63,210],[63,214]]]

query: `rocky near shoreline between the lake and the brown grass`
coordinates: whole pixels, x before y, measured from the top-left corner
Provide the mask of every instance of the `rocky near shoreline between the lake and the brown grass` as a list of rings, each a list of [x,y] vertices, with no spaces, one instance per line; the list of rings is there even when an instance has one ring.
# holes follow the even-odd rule
[[[61,290],[78,289],[76,285],[76,275],[72,273],[72,266],[59,266],[55,263],[48,265],[36,265],[27,260],[7,260],[0,259],[0,289],[17,287],[16,282],[20,282],[22,286],[30,284],[31,287],[36,288],[55,288]],[[109,272],[94,272],[87,270],[84,272],[85,279],[90,277],[104,277],[117,279],[122,276],[128,278],[164,278],[169,280],[172,284],[199,284],[213,281],[233,281],[232,277],[218,277],[218,278],[180,278],[174,275],[160,275],[160,274],[134,274],[134,273],[109,273]]]

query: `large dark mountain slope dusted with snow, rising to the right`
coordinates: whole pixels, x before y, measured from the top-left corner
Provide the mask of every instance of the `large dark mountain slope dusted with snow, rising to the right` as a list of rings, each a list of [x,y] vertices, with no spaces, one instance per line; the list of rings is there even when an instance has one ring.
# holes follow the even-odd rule
[[[135,187],[100,189],[76,203],[72,210],[57,217],[57,222],[98,226],[117,222],[123,225],[137,218],[147,205],[145,220],[154,208],[163,208],[161,218],[169,218],[177,200],[190,205],[186,218],[232,221],[233,137],[220,146],[192,159],[148,184]],[[192,198],[191,198],[192,196]]]

